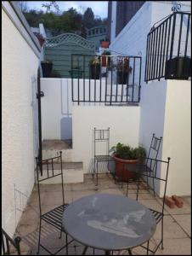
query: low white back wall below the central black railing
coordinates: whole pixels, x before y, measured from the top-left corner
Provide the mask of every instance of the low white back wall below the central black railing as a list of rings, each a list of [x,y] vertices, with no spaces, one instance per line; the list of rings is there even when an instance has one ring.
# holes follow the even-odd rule
[[[94,127],[97,129],[110,127],[110,147],[115,146],[116,143],[138,147],[139,107],[73,107],[72,116],[73,159],[83,161],[84,172],[90,172],[90,168],[93,167],[91,165]],[[97,154],[102,152],[97,151]]]

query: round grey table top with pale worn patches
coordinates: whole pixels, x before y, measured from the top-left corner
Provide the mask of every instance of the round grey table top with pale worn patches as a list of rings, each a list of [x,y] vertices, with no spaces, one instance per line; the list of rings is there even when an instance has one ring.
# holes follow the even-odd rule
[[[63,226],[76,241],[106,251],[141,245],[156,228],[148,208],[124,195],[110,194],[72,202],[63,214]]]

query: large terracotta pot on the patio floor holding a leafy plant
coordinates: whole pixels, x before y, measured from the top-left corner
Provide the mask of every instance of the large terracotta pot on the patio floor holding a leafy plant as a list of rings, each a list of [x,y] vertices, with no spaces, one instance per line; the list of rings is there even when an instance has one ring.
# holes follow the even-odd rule
[[[138,163],[138,159],[136,160],[124,160],[121,158],[118,158],[116,155],[114,155],[113,160],[116,162],[116,178],[120,181],[127,181],[130,178],[136,177],[136,174],[134,172],[130,172],[128,170],[128,165],[134,165]]]

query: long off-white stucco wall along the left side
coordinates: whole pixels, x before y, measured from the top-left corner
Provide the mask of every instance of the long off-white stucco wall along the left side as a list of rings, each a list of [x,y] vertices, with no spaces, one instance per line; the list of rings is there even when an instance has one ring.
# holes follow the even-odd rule
[[[23,210],[34,184],[32,86],[37,83],[38,57],[3,9],[2,25],[2,224],[12,236],[21,215],[15,207]],[[14,184],[24,194],[22,206]]]

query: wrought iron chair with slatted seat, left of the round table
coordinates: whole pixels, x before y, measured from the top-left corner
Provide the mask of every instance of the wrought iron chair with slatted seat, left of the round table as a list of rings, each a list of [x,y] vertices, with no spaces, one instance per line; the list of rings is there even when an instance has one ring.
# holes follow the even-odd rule
[[[37,160],[37,158],[36,158]],[[59,164],[59,169],[57,168],[57,172],[54,169],[55,164]],[[42,165],[42,174],[41,174],[41,166]],[[46,166],[44,168],[44,166]],[[61,177],[61,185],[62,185],[62,205],[59,207],[56,207],[54,209],[52,209],[51,211],[48,211],[46,213],[42,214],[42,201],[41,201],[41,189],[40,189],[40,183],[42,183],[43,181],[50,179],[50,178],[54,178],[60,176]],[[45,221],[48,224],[51,224],[54,226],[54,228],[56,228],[57,230],[60,231],[60,236],[59,238],[61,238],[62,236],[62,232],[64,230],[64,228],[62,227],[62,216],[63,216],[63,212],[65,211],[66,207],[68,207],[69,204],[65,203],[65,199],[64,199],[64,181],[63,181],[63,168],[62,168],[62,151],[60,151],[59,156],[54,157],[54,158],[50,158],[47,160],[42,160],[41,163],[37,160],[37,189],[38,189],[38,199],[39,199],[39,211],[40,211],[40,224],[39,224],[39,237],[38,237],[38,252],[39,253],[39,249],[40,247],[42,247],[44,250],[46,250],[48,253],[51,253],[48,248],[44,247],[41,244],[41,231],[42,231],[42,221]],[[71,243],[68,242],[68,237],[67,234],[65,234],[65,241],[66,244],[64,247],[61,247],[56,253],[59,253],[62,249],[64,249],[66,247],[66,253],[68,254],[68,245]]]

